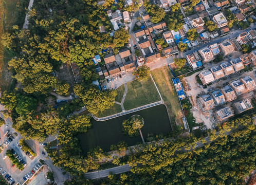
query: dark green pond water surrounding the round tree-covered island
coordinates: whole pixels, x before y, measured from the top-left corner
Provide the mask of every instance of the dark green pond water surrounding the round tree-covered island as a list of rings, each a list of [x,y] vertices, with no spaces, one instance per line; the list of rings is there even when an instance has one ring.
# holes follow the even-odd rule
[[[82,150],[86,154],[89,149],[93,149],[97,145],[101,146],[105,152],[110,151],[109,147],[112,144],[117,144],[119,141],[124,140],[129,146],[135,145],[141,142],[141,137],[130,138],[122,134],[121,125],[123,120],[129,118],[132,115],[140,115],[144,119],[144,125],[141,128],[144,140],[149,133],[167,134],[171,132],[171,125],[167,113],[166,106],[157,105],[138,112],[120,116],[107,121],[92,120],[93,128],[87,133],[80,134],[80,144]]]

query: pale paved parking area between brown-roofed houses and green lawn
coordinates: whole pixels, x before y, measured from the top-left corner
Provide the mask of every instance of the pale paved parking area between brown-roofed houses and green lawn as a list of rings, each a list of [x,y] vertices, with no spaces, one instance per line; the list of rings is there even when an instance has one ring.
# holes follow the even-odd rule
[[[109,77],[106,77],[105,81],[101,81],[101,86],[106,86],[108,89],[117,89],[122,84],[131,82],[135,79],[135,76],[133,76],[133,71],[126,71],[118,73],[117,75],[112,75]],[[120,77],[121,75],[121,77]],[[108,82],[107,82],[108,81]]]

